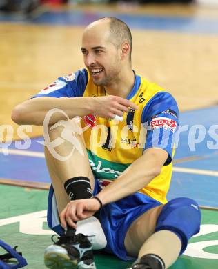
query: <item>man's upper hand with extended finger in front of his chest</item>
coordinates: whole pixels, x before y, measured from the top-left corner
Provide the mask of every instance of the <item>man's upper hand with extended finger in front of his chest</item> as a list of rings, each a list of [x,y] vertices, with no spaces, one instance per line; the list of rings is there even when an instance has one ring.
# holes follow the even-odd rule
[[[115,95],[95,97],[93,99],[93,112],[99,117],[114,119],[115,116],[123,116],[130,108],[137,110],[138,106],[131,101]]]

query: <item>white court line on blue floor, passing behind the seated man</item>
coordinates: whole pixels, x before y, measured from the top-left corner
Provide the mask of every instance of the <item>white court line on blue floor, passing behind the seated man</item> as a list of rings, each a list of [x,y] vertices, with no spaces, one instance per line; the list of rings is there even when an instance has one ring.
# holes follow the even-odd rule
[[[0,149],[0,154],[3,154],[3,150]],[[8,148],[8,154],[11,155],[23,155],[29,157],[39,157],[44,158],[45,155],[43,152],[30,151],[30,150],[13,150]],[[184,167],[173,167],[172,170],[174,172],[188,173],[188,174],[196,174],[196,175],[206,175],[212,177],[218,177],[218,171],[212,170],[201,170],[201,169],[193,169],[193,168],[184,168]]]

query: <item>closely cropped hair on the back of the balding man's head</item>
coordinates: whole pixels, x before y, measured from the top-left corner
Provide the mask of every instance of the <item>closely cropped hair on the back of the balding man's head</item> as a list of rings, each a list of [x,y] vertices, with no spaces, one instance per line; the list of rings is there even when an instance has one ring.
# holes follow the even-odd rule
[[[124,41],[130,44],[130,61],[132,55],[132,34],[128,25],[115,17],[103,17],[99,20],[109,20],[110,22],[110,34],[115,39],[115,45],[121,46]]]

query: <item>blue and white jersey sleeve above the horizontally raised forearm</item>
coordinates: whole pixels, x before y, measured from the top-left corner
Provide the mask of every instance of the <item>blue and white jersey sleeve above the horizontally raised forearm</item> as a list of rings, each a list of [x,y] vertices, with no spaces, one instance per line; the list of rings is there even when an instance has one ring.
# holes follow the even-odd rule
[[[45,89],[41,90],[32,98],[37,97],[82,97],[88,82],[88,72],[86,69],[75,73],[59,77]]]

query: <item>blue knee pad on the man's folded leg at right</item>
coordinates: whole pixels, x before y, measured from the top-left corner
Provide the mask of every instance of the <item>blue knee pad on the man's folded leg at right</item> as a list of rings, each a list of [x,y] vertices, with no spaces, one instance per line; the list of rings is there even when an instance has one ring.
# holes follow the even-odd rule
[[[182,254],[188,240],[200,230],[201,211],[196,201],[189,198],[175,198],[166,203],[157,219],[155,232],[170,230],[181,239]]]

